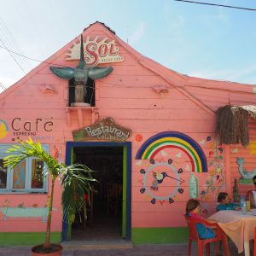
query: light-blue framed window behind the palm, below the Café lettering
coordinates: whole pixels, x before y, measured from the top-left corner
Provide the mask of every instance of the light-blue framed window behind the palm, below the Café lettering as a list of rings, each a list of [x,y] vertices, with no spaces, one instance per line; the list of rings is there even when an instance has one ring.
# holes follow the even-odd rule
[[[0,193],[44,193],[48,190],[48,178],[44,177],[45,164],[35,157],[20,162],[14,169],[7,171],[3,167],[6,150],[13,144],[0,144]],[[48,145],[42,148],[49,152]]]

